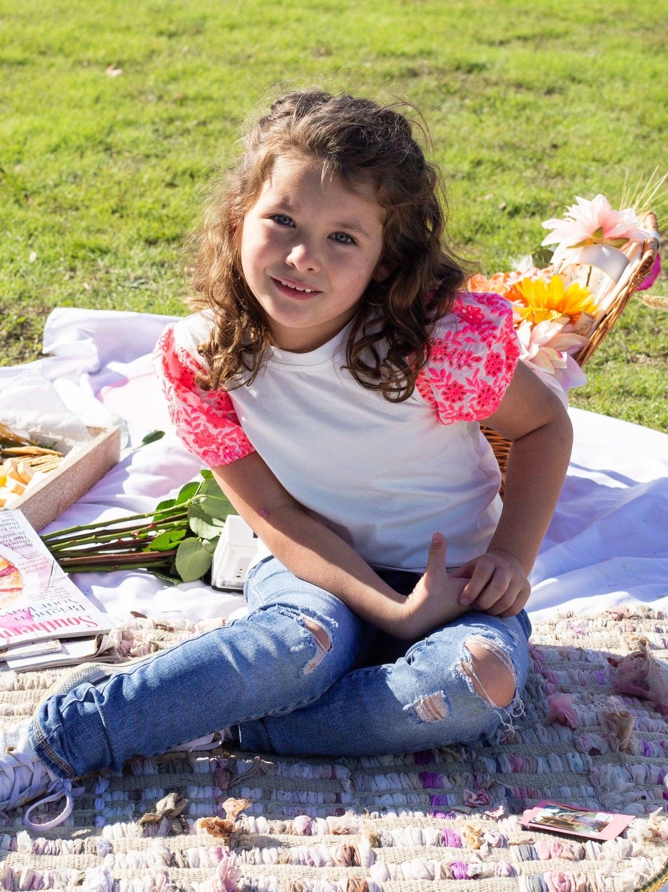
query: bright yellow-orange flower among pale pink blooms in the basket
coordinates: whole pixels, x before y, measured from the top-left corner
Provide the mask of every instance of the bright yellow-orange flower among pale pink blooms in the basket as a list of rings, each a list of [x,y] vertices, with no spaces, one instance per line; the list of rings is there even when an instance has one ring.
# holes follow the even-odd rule
[[[515,314],[533,325],[560,316],[567,316],[574,322],[581,313],[596,316],[598,312],[589,288],[577,282],[566,288],[560,276],[553,276],[549,282],[525,278],[513,285],[506,297],[508,301],[513,301]]]

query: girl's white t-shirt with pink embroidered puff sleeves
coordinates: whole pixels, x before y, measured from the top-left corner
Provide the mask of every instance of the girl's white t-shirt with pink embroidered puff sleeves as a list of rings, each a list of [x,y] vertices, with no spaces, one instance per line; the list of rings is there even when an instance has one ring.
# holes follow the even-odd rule
[[[436,531],[448,566],[460,566],[484,552],[501,512],[499,465],[478,419],[497,409],[515,371],[512,308],[498,294],[459,293],[399,403],[341,369],[350,324],[308,353],[271,348],[255,381],[229,392],[194,384],[209,313],[168,326],[154,359],[177,433],[210,467],[259,452],[371,566],[424,573]],[[253,563],[269,553],[261,543]]]

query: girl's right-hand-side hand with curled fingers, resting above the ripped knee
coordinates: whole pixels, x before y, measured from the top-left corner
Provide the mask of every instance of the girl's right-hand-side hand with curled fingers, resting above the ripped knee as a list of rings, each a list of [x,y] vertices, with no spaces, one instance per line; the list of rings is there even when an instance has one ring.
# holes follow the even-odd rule
[[[450,577],[466,578],[459,603],[491,616],[515,616],[523,609],[532,587],[524,567],[509,551],[491,549],[460,566]]]

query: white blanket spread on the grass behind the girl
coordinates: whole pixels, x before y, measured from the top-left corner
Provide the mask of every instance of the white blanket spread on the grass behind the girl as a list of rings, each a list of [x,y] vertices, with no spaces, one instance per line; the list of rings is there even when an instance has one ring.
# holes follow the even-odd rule
[[[201,462],[175,434],[134,454],[128,449],[151,430],[170,431],[150,354],[172,318],[54,310],[44,335],[44,351],[53,355],[0,368],[0,387],[44,376],[87,424],[121,423],[127,432],[120,464],[47,531],[150,511],[197,477]],[[581,409],[569,414],[573,456],[532,571],[527,612],[540,620],[559,605],[583,614],[637,601],[668,609],[668,435]],[[78,574],[74,582],[118,617],[130,610],[192,619],[243,612],[241,594],[201,582],[167,587],[140,571]]]

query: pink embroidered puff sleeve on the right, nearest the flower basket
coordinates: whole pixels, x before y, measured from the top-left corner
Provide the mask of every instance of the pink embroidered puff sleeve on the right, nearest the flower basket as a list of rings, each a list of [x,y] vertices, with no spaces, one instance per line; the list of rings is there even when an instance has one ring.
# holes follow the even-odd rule
[[[513,308],[495,293],[459,292],[434,328],[416,390],[439,421],[481,421],[499,408],[520,357]]]

